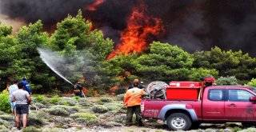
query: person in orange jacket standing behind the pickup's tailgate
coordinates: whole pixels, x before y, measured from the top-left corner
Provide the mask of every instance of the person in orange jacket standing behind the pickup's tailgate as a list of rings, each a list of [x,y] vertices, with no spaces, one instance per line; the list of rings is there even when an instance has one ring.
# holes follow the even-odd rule
[[[141,102],[142,102],[142,94],[146,94],[146,92],[142,89],[138,88],[139,82],[134,83],[134,87],[127,90],[124,97],[124,104],[127,106],[126,112],[126,126],[130,126],[132,124],[133,114],[136,114],[136,121],[138,126],[143,126],[142,124],[142,112],[141,112]]]

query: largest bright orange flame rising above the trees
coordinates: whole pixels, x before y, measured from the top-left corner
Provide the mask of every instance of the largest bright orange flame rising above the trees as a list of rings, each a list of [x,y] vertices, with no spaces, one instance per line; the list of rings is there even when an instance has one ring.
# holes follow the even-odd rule
[[[150,35],[158,38],[162,30],[164,30],[162,20],[147,15],[145,3],[139,1],[128,19],[126,30],[122,31],[121,42],[107,59],[113,58],[118,53],[140,53],[147,46]]]

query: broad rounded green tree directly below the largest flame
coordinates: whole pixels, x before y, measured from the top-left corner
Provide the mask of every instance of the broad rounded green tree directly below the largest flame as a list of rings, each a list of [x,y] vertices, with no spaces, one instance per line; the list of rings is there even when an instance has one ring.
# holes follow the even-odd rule
[[[190,54],[168,43],[153,42],[150,46],[149,54],[142,54],[133,62],[135,74],[148,81],[188,80],[193,63]]]

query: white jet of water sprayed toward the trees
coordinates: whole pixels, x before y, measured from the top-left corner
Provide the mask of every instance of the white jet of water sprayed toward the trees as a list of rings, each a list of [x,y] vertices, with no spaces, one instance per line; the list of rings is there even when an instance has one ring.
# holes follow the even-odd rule
[[[58,76],[66,80],[66,82],[69,82],[70,84],[74,85],[57,70],[58,66],[64,65],[65,58],[63,58],[57,53],[54,53],[53,51],[42,48],[38,48],[38,52],[40,54],[40,58],[42,58],[42,61],[45,62],[51,70],[53,70],[56,74],[58,74]]]

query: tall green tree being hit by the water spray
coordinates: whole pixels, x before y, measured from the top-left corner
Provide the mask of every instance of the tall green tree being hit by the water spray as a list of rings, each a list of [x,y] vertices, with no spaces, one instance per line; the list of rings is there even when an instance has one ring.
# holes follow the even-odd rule
[[[85,78],[86,86],[107,90],[114,86],[118,69],[105,59],[113,50],[113,41],[104,38],[102,31],[90,30],[91,23],[82,17],[78,10],[76,17],[68,15],[57,25],[57,30],[46,45],[66,58],[63,73],[70,73],[71,82]],[[68,74],[67,74],[68,75]],[[106,84],[103,84],[106,82]]]

